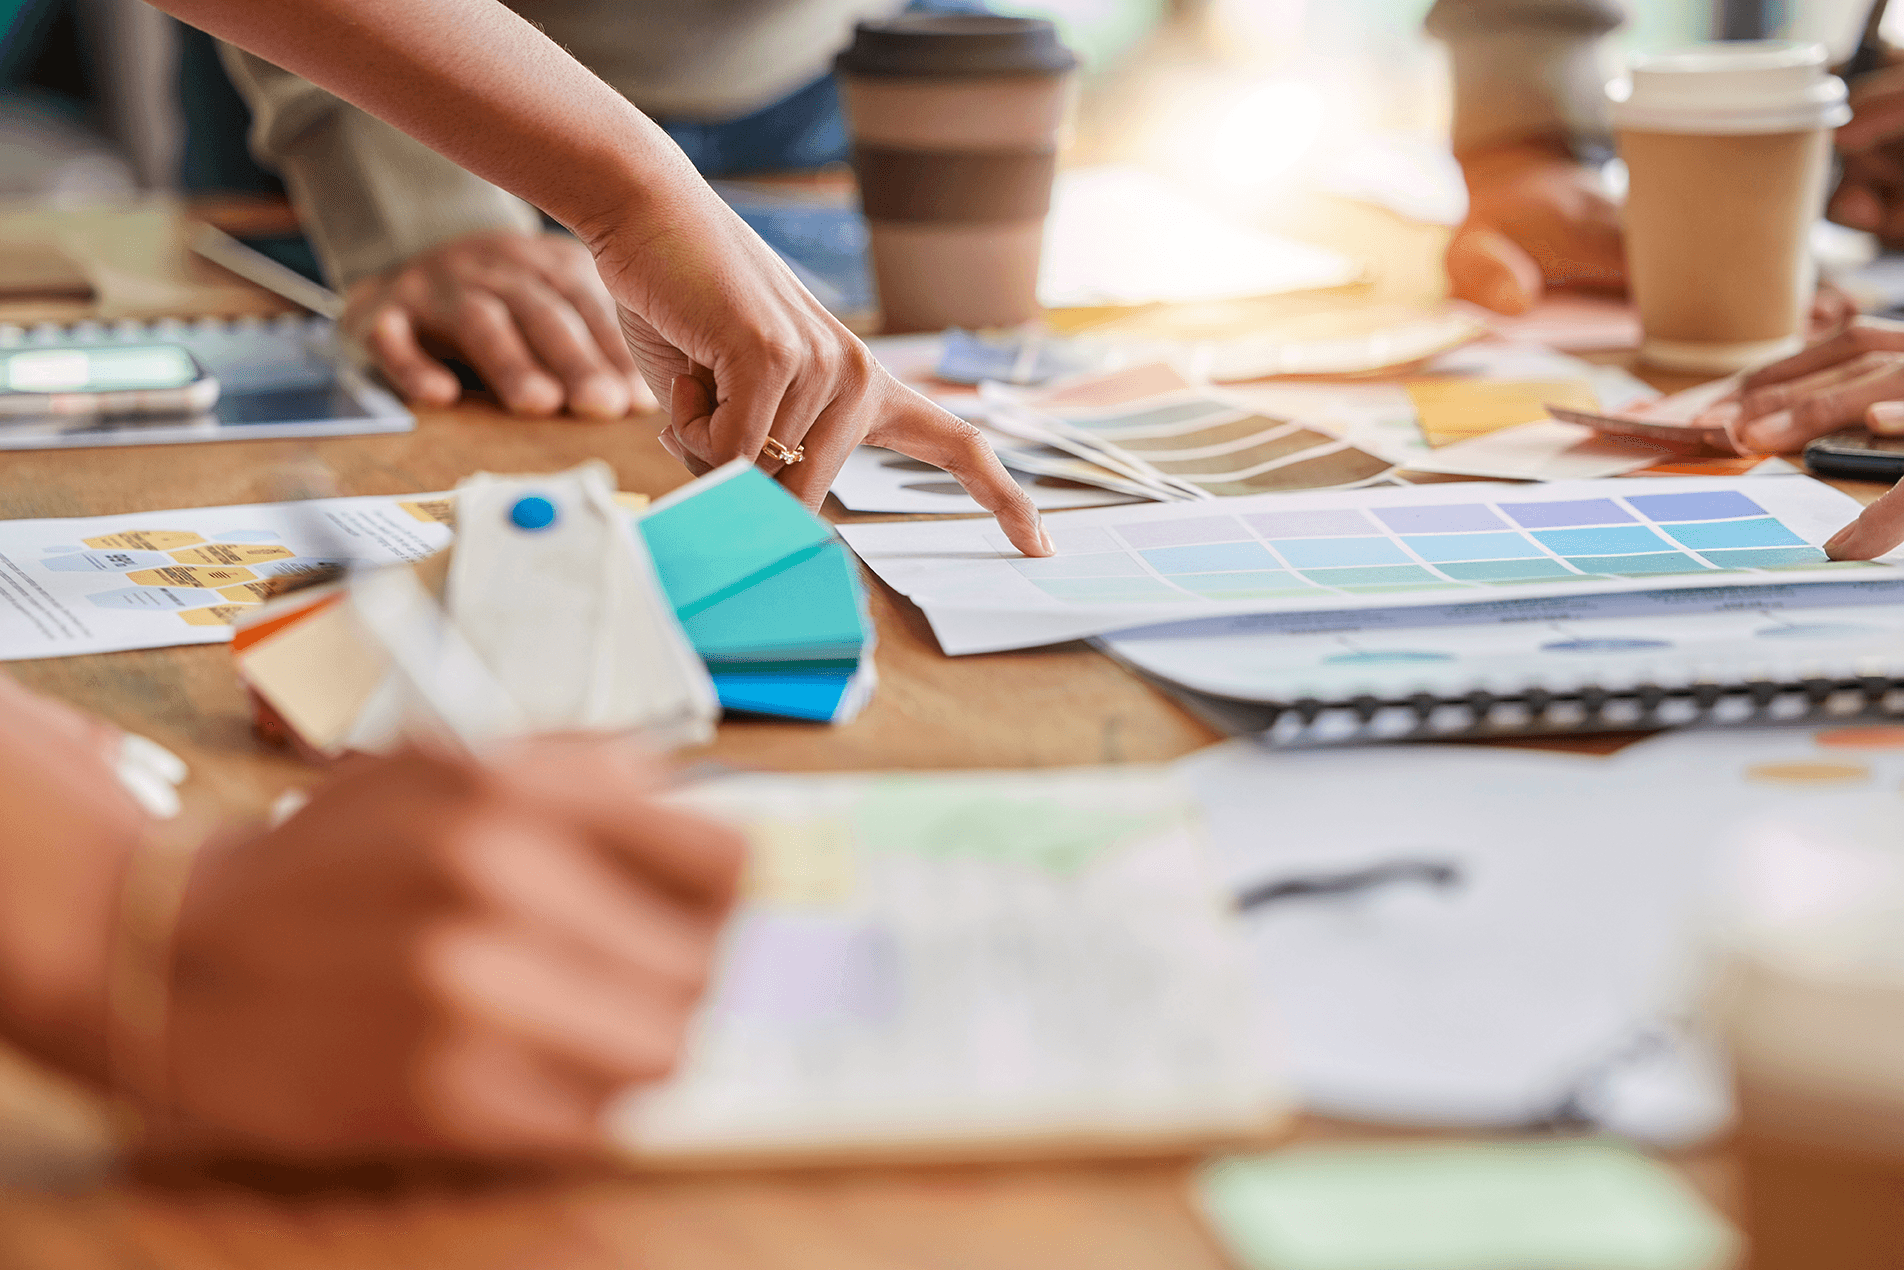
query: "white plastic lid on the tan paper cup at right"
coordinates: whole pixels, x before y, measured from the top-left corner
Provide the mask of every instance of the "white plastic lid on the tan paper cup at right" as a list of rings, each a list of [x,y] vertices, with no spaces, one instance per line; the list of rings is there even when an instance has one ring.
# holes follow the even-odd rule
[[[1773,133],[1837,128],[1845,82],[1822,44],[1733,40],[1636,57],[1607,86],[1613,126],[1634,131]]]

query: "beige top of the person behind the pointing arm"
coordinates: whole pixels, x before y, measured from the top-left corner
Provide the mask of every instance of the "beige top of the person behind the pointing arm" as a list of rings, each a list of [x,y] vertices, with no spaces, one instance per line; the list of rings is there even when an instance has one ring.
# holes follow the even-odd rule
[[[826,72],[863,17],[906,0],[508,0],[655,118],[752,114]],[[533,208],[322,88],[234,48],[251,150],[284,175],[331,286],[489,228],[533,230]]]

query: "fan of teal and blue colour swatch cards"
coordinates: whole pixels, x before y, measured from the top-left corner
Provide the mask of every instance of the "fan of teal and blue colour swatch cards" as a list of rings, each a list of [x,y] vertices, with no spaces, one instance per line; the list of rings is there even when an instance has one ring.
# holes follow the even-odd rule
[[[659,499],[636,527],[720,703],[847,722],[872,695],[872,621],[832,527],[752,463]]]

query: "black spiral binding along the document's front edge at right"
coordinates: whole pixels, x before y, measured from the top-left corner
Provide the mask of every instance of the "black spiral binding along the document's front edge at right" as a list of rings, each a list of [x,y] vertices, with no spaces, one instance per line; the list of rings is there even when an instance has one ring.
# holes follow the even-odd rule
[[[1211,727],[1255,737],[1279,750],[1371,744],[1388,741],[1483,741],[1493,737],[1559,737],[1658,727],[1875,722],[1904,718],[1904,680],[1889,676],[1811,678],[1742,684],[1641,684],[1616,691],[1527,689],[1462,697],[1314,697],[1259,703],[1200,693],[1144,676]]]

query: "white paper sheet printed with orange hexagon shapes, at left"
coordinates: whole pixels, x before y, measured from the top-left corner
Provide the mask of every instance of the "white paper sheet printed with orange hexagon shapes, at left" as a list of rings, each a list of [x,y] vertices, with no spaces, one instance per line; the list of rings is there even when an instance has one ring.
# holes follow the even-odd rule
[[[0,522],[0,661],[223,644],[263,583],[449,545],[442,493]]]

